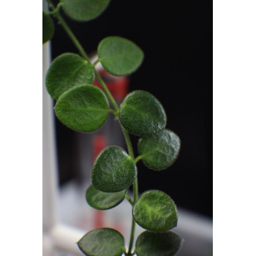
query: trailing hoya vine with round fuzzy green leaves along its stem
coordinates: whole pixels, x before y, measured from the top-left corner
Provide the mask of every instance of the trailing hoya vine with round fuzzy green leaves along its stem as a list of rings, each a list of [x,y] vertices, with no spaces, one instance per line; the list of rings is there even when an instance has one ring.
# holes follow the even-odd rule
[[[50,11],[42,13],[42,42],[53,37],[53,17],[63,26],[79,53],[61,54],[48,69],[45,83],[50,97],[56,100],[57,118],[75,131],[95,132],[105,124],[108,115],[112,115],[118,119],[127,144],[127,151],[108,146],[99,153],[91,167],[91,186],[86,191],[86,200],[91,207],[102,211],[118,206],[124,198],[129,201],[132,214],[129,246],[125,247],[121,233],[105,227],[86,233],[78,241],[78,248],[88,256],[176,255],[183,241],[170,231],[178,222],[176,205],[169,195],[159,190],[138,195],[137,163],[141,160],[152,170],[164,170],[178,157],[181,141],[166,129],[165,110],[154,95],[148,91],[132,91],[118,106],[95,68],[100,62],[111,75],[130,75],[142,64],[143,50],[129,39],[106,37],[97,46],[97,61],[91,63],[60,10],[72,20],[84,22],[97,18],[110,0],[61,0],[56,6],[47,1]],[[102,89],[93,85],[94,77]],[[138,156],[134,154],[129,134],[138,137]],[[133,197],[127,194],[130,187]],[[134,241],[136,223],[146,231]]]

